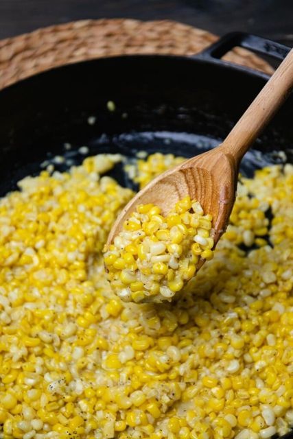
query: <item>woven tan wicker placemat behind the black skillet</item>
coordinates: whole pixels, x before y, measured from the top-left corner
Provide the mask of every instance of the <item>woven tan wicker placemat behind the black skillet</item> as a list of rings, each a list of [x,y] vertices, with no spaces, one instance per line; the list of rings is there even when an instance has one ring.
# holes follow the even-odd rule
[[[0,88],[71,62],[118,54],[196,54],[217,36],[172,21],[128,19],[75,21],[0,40]],[[272,67],[236,48],[226,60],[266,73]]]

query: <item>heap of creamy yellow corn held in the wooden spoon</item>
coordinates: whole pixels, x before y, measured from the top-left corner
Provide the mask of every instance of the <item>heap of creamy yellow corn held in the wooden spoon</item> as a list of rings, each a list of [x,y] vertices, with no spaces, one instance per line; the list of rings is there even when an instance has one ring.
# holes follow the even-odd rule
[[[211,220],[189,196],[166,217],[159,206],[138,206],[104,254],[110,285],[119,298],[170,301],[196,274],[200,258],[213,258]]]

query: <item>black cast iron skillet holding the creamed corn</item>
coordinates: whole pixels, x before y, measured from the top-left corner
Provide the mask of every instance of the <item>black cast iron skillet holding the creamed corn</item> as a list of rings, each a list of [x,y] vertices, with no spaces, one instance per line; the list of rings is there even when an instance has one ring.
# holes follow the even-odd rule
[[[224,36],[201,54],[119,56],[52,69],[0,92],[0,195],[16,188],[40,163],[72,150],[79,163],[89,154],[139,150],[194,156],[220,143],[268,76],[223,62],[235,46],[283,59],[288,47],[242,33]],[[106,103],[115,102],[110,112]],[[246,154],[242,173],[270,163],[293,163],[293,97]],[[95,117],[94,125],[88,123]],[[56,166],[63,170],[66,164]],[[131,185],[121,167],[113,176]],[[293,438],[293,434],[283,439]]]

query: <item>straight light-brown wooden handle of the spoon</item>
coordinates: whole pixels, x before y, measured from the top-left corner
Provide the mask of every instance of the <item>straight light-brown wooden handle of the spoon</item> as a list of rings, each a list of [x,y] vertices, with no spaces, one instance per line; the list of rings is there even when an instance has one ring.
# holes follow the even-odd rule
[[[240,84],[241,86],[241,84]],[[293,88],[293,49],[255,97],[220,149],[239,163]]]

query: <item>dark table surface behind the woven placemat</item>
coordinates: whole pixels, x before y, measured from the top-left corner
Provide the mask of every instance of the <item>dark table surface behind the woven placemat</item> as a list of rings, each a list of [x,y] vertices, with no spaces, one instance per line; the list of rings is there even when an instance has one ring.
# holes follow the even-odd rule
[[[293,45],[293,0],[0,0],[0,38],[78,19],[172,19]]]

